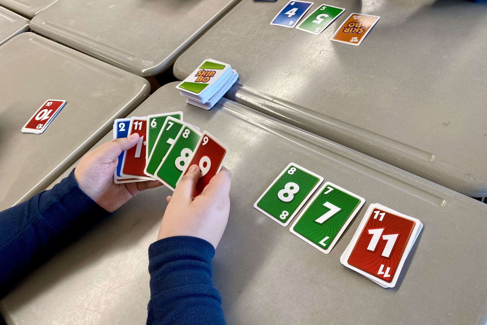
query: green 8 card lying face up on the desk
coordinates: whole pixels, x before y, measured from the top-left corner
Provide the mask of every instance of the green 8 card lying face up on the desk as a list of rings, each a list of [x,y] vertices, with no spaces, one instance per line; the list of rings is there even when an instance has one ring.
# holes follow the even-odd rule
[[[255,202],[254,208],[282,226],[287,226],[323,177],[290,163]]]

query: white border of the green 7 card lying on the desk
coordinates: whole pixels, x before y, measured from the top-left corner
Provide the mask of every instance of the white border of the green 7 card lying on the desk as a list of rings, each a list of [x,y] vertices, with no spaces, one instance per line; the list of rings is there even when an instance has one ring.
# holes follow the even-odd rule
[[[355,210],[353,210],[352,213],[350,214],[350,216],[347,218],[347,220],[345,221],[345,223],[343,224],[343,226],[340,228],[340,230],[338,231],[338,233],[335,236],[335,238],[333,239],[333,241],[330,244],[328,244],[328,248],[324,249],[323,247],[318,246],[317,244],[315,244],[311,240],[309,240],[306,237],[302,236],[300,233],[296,232],[294,230],[294,226],[298,223],[298,221],[301,219],[301,217],[304,215],[304,213],[308,210],[308,208],[313,204],[313,202],[315,202],[315,200],[318,198],[318,196],[321,195],[321,193],[323,192],[323,190],[327,186],[329,186],[329,185],[333,186],[337,190],[343,191],[343,192],[349,194],[350,196],[353,196],[353,197],[359,199],[360,202],[358,203],[358,205],[355,208]],[[335,246],[335,244],[337,244],[337,241],[341,238],[341,235],[343,234],[343,232],[345,231],[345,229],[347,229],[348,225],[352,222],[352,220],[355,218],[356,214],[362,208],[362,206],[364,205],[364,203],[365,203],[365,199],[363,197],[358,196],[357,194],[352,193],[351,191],[345,190],[344,188],[338,186],[337,184],[334,184],[332,182],[326,182],[325,184],[323,184],[323,186],[321,186],[321,188],[316,192],[316,194],[308,202],[308,204],[306,205],[306,207],[301,211],[300,215],[296,218],[296,220],[292,224],[291,228],[289,228],[289,231],[291,231],[292,233],[294,233],[296,236],[298,236],[299,238],[301,238],[302,240],[304,240],[306,243],[310,244],[314,248],[319,249],[320,251],[322,251],[325,254],[328,254],[333,249],[333,247]]]

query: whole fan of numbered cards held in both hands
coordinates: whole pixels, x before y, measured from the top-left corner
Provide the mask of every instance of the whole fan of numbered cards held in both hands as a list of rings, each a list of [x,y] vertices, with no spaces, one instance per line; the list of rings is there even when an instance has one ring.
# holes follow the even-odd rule
[[[174,191],[189,166],[200,167],[194,196],[222,168],[228,152],[216,137],[183,121],[183,112],[119,118],[113,124],[113,138],[139,134],[137,144],[120,154],[115,183],[157,179]]]

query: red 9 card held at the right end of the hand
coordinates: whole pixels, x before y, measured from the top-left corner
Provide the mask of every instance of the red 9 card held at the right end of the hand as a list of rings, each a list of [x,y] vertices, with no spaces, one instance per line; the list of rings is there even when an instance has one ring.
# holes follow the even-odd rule
[[[210,179],[220,172],[227,152],[228,150],[223,143],[207,131],[203,131],[191,161],[187,164],[187,168],[191,165],[200,166],[200,179],[196,184],[194,196],[198,196],[208,185]],[[178,183],[186,173],[187,169],[181,174]]]

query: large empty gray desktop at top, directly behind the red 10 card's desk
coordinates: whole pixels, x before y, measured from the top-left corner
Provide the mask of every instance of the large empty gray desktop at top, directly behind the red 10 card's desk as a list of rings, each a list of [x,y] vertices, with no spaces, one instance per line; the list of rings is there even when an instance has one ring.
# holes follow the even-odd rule
[[[62,0],[32,30],[139,76],[163,72],[240,0]]]

